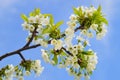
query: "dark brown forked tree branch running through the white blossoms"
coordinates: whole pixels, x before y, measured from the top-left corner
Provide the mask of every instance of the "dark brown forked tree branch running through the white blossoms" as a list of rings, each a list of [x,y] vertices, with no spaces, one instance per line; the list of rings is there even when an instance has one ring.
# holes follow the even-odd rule
[[[75,32],[77,32],[79,29],[84,29],[83,26],[79,26],[75,29]],[[12,51],[12,52],[9,52],[9,53],[6,53],[6,54],[3,54],[2,56],[0,56],[0,61],[3,60],[4,58],[6,57],[9,57],[9,56],[12,56],[12,55],[15,55],[15,54],[19,54],[21,56],[21,52],[22,51],[25,51],[25,50],[29,50],[29,49],[32,49],[32,48],[36,48],[36,47],[39,47],[41,46],[40,44],[36,44],[36,45],[32,45],[32,46],[29,46],[30,43],[32,42],[34,36],[36,35],[36,30],[37,30],[37,26],[35,26],[35,29],[32,33],[32,36],[30,38],[30,40],[25,44],[25,46],[23,46],[22,48],[18,49],[18,50],[15,50],[15,51]],[[62,37],[65,36],[65,34],[62,34],[61,35]],[[51,43],[51,40],[48,41],[48,44]],[[67,51],[65,48],[62,48],[63,50],[65,50],[65,52],[67,52],[68,54],[70,54],[71,56],[73,56],[69,51]],[[24,57],[21,56],[21,58],[24,60]]]

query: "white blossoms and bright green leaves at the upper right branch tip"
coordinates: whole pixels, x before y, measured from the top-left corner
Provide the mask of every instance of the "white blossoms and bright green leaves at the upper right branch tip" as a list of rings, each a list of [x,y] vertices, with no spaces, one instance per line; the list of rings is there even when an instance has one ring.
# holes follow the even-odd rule
[[[94,35],[93,32],[95,32],[97,39],[101,39],[107,32],[105,24],[108,24],[108,22],[101,12],[101,6],[98,9],[95,9],[93,6],[89,8],[81,6],[74,8],[74,13],[82,27],[82,35],[91,38]]]

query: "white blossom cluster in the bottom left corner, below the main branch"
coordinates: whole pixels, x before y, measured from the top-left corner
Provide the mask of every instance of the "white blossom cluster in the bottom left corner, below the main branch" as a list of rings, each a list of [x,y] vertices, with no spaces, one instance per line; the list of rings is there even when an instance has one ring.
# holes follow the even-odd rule
[[[13,78],[24,80],[23,76],[30,75],[32,70],[36,75],[42,73],[44,67],[41,66],[40,60],[21,62],[21,64],[17,66],[13,66],[12,64],[7,65],[0,69],[0,80],[12,80]]]

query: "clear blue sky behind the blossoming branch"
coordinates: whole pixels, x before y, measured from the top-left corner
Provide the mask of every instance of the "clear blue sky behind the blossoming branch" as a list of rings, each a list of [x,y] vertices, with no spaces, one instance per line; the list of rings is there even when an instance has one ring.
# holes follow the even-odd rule
[[[25,44],[27,32],[23,31],[20,18],[21,13],[29,14],[34,8],[40,8],[42,13],[51,13],[55,21],[68,21],[73,12],[72,7],[102,5],[103,12],[109,21],[108,33],[97,41],[91,40],[91,48],[99,57],[97,69],[93,72],[91,80],[120,80],[120,0],[0,0],[0,55],[16,50]],[[66,28],[66,24],[61,26]],[[23,52],[26,59],[41,59],[40,47],[34,50]],[[17,65],[21,59],[18,55],[8,57],[0,62],[0,68],[6,64]],[[58,69],[50,64],[40,77],[25,77],[25,80],[73,80],[65,69]]]

